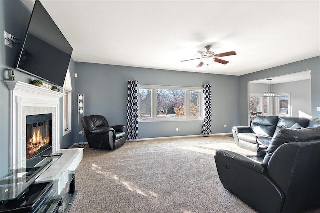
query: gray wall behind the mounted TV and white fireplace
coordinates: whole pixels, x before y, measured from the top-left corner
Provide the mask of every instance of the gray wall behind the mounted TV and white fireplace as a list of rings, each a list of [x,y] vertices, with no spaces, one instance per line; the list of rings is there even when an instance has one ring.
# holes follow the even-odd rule
[[[14,35],[23,42],[31,11],[20,0],[0,0],[0,176],[3,174],[9,164],[9,89],[3,82],[4,73],[7,69],[16,67],[22,45],[13,44],[12,48],[4,45],[4,31]],[[74,76],[75,63],[70,61],[69,70],[71,77]],[[17,81],[30,83],[35,77],[28,74],[14,71]],[[72,75],[73,73],[73,75]],[[72,87],[74,78],[72,78]],[[73,93],[73,92],[72,92]],[[74,97],[74,96],[73,96]],[[60,123],[63,123],[63,98],[60,99]],[[72,119],[73,122],[73,119]],[[73,128],[73,127],[72,127]],[[63,132],[63,126],[60,127]],[[62,136],[59,139],[61,148],[68,148],[74,143],[73,134]]]

